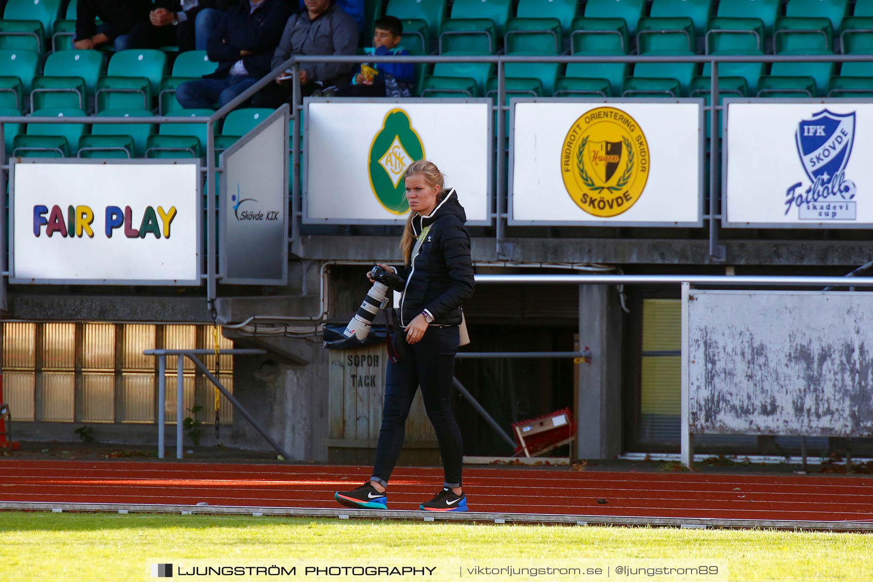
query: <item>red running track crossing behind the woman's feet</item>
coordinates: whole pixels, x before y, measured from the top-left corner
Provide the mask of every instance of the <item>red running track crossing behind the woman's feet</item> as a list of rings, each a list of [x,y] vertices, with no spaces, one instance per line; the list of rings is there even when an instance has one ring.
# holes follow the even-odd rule
[[[0,502],[338,509],[361,467],[0,459]],[[417,510],[440,469],[395,469],[388,508]],[[471,511],[873,523],[873,477],[464,469]],[[598,503],[606,500],[607,503]]]

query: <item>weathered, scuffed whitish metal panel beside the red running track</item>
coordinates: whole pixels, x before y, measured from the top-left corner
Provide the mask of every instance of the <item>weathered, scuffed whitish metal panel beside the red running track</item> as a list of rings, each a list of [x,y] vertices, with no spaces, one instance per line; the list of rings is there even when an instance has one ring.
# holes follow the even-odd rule
[[[873,295],[689,291],[692,434],[873,435]]]

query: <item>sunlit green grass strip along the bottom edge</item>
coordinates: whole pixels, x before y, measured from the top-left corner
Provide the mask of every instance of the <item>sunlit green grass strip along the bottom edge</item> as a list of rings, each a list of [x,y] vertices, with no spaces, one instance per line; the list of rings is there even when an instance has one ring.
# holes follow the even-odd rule
[[[0,580],[15,582],[148,580],[155,558],[287,566],[300,558],[338,563],[393,558],[410,565],[441,564],[446,558],[504,565],[574,560],[613,569],[640,560],[672,566],[709,562],[723,568],[718,576],[669,579],[855,581],[873,580],[871,556],[873,534],[863,533],[0,511]],[[457,572],[457,565],[452,568]],[[448,566],[443,572],[449,577],[442,579],[455,579]],[[612,579],[618,578],[612,572]]]

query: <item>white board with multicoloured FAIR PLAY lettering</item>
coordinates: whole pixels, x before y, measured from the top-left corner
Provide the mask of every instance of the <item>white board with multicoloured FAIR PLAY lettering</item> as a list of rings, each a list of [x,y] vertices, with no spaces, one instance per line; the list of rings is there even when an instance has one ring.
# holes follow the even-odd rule
[[[22,161],[11,177],[11,283],[201,284],[199,162]]]

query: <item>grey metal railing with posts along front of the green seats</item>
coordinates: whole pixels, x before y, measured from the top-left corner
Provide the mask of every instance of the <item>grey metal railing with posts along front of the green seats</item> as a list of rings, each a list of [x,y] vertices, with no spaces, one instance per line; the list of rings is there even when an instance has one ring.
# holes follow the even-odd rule
[[[208,117],[32,117],[32,116],[0,116],[0,192],[5,192],[7,172],[9,165],[6,161],[5,151],[5,135],[3,124],[5,123],[64,123],[75,124],[81,123],[86,125],[93,124],[163,124],[163,123],[203,123],[206,125],[206,168],[203,170],[206,176],[215,175],[217,172],[223,171],[223,168],[217,168],[215,160],[215,125],[219,120],[222,120],[228,113],[236,109],[238,106],[243,106],[249,101],[258,91],[265,86],[271,84],[280,74],[286,70],[292,72],[292,91],[291,91],[291,119],[292,119],[292,220],[291,232],[289,235],[289,243],[292,249],[299,245],[300,241],[300,225],[302,223],[302,203],[301,191],[299,183],[300,173],[300,127],[301,112],[303,109],[302,92],[299,83],[299,68],[300,65],[319,64],[319,63],[346,63],[350,65],[358,65],[361,63],[409,63],[413,65],[428,65],[434,63],[483,63],[496,65],[497,68],[497,101],[492,106],[492,111],[497,115],[496,127],[496,151],[497,157],[497,178],[495,196],[496,203],[493,208],[496,211],[492,212],[491,219],[495,224],[495,243],[498,257],[507,258],[505,252],[506,238],[506,221],[507,214],[507,198],[505,183],[505,169],[508,163],[506,153],[506,115],[509,112],[510,106],[506,104],[506,86],[505,86],[505,65],[511,63],[691,63],[691,64],[709,64],[711,67],[710,76],[710,105],[704,107],[707,112],[721,112],[723,106],[720,105],[718,99],[718,65],[726,63],[851,63],[851,62],[869,62],[873,60],[871,55],[609,55],[609,56],[576,56],[576,55],[483,55],[483,56],[464,56],[464,55],[426,55],[426,56],[375,56],[375,55],[354,55],[354,56],[303,56],[295,55],[288,58],[284,63],[278,65],[268,73],[264,78],[259,79],[257,83],[249,87],[244,92],[240,93],[237,98],[232,99],[225,106],[219,108],[215,113]],[[606,99],[606,98],[604,98]],[[666,98],[670,99],[670,98]],[[714,143],[718,141],[719,115],[710,116],[710,135]],[[719,181],[721,179],[718,170],[718,147],[711,147],[711,155],[709,159],[710,177],[709,191],[711,193],[709,199],[709,212],[704,214],[708,224],[709,237],[709,255],[713,260],[724,259],[724,249],[719,244],[719,229],[718,219],[721,218],[718,209],[718,196],[716,193],[719,189]],[[216,222],[217,208],[215,197],[215,181],[206,180],[207,192],[207,221],[210,225]],[[703,195],[703,193],[701,193]],[[4,229],[5,225],[5,204],[0,205],[0,229]],[[206,274],[204,276],[207,285],[207,298],[210,308],[214,305],[214,300],[217,298],[217,282],[221,278],[221,274],[217,272],[217,239],[214,228],[207,229],[206,242]],[[7,234],[3,232],[0,236],[0,257],[6,255],[6,238]],[[3,274],[7,273],[5,268],[5,258],[3,258]],[[687,279],[687,277],[685,277]],[[629,283],[630,281],[625,281]],[[3,281],[3,284],[5,282]]]

